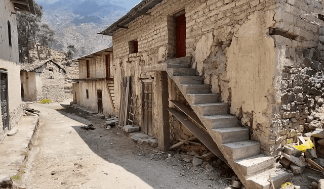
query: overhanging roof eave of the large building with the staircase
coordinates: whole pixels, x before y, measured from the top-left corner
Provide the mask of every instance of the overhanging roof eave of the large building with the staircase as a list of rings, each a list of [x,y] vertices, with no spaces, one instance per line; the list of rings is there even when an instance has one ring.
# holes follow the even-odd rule
[[[162,1],[163,0],[143,0],[133,9],[131,9],[130,12],[128,12],[125,16],[121,17],[115,23],[111,24],[107,29],[98,34],[111,35],[114,31],[116,31],[120,27],[125,27],[126,24],[143,15],[141,13],[146,13],[148,10],[152,9],[155,5],[159,4]]]

